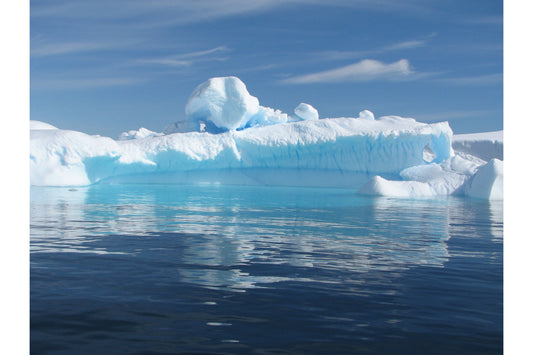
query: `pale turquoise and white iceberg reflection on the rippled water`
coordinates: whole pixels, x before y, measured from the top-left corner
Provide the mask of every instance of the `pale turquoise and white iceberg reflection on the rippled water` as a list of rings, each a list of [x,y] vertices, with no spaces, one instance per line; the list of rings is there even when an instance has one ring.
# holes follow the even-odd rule
[[[230,290],[346,278],[357,284],[369,272],[394,278],[413,267],[442,267],[451,235],[501,240],[502,214],[498,204],[368,198],[342,189],[32,188],[31,252],[171,260],[181,281]]]

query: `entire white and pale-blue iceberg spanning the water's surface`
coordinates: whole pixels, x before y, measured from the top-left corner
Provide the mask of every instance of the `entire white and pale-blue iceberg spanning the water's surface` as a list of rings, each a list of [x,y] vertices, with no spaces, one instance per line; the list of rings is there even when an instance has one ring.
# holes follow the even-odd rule
[[[32,185],[191,183],[199,177],[298,185],[308,179],[381,196],[502,195],[495,187],[502,180],[501,161],[456,155],[447,122],[374,118],[367,110],[357,118],[319,119],[304,103],[288,115],[260,106],[235,77],[198,86],[186,120],[162,133],[141,128],[114,140],[37,121],[30,128]]]

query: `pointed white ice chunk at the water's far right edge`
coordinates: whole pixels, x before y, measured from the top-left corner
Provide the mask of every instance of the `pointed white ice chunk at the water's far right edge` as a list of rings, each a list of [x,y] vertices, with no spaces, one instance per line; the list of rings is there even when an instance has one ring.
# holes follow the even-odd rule
[[[487,200],[503,200],[503,162],[491,159],[465,185],[465,194]]]

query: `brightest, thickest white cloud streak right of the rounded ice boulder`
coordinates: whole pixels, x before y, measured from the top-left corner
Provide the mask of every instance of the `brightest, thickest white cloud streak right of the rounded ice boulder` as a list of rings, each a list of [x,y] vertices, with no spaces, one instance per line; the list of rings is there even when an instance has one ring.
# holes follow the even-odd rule
[[[407,59],[401,59],[390,64],[365,59],[340,68],[284,79],[282,82],[286,84],[311,84],[371,80],[405,80],[410,79],[414,74]]]

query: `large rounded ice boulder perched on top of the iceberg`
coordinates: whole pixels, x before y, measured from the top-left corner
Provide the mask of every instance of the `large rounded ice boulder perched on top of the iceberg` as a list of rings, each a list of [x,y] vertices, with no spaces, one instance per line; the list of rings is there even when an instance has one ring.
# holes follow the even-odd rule
[[[229,131],[244,128],[259,109],[259,100],[250,95],[246,85],[230,76],[211,78],[196,87],[185,106],[185,115],[188,121],[204,122],[207,131]]]

